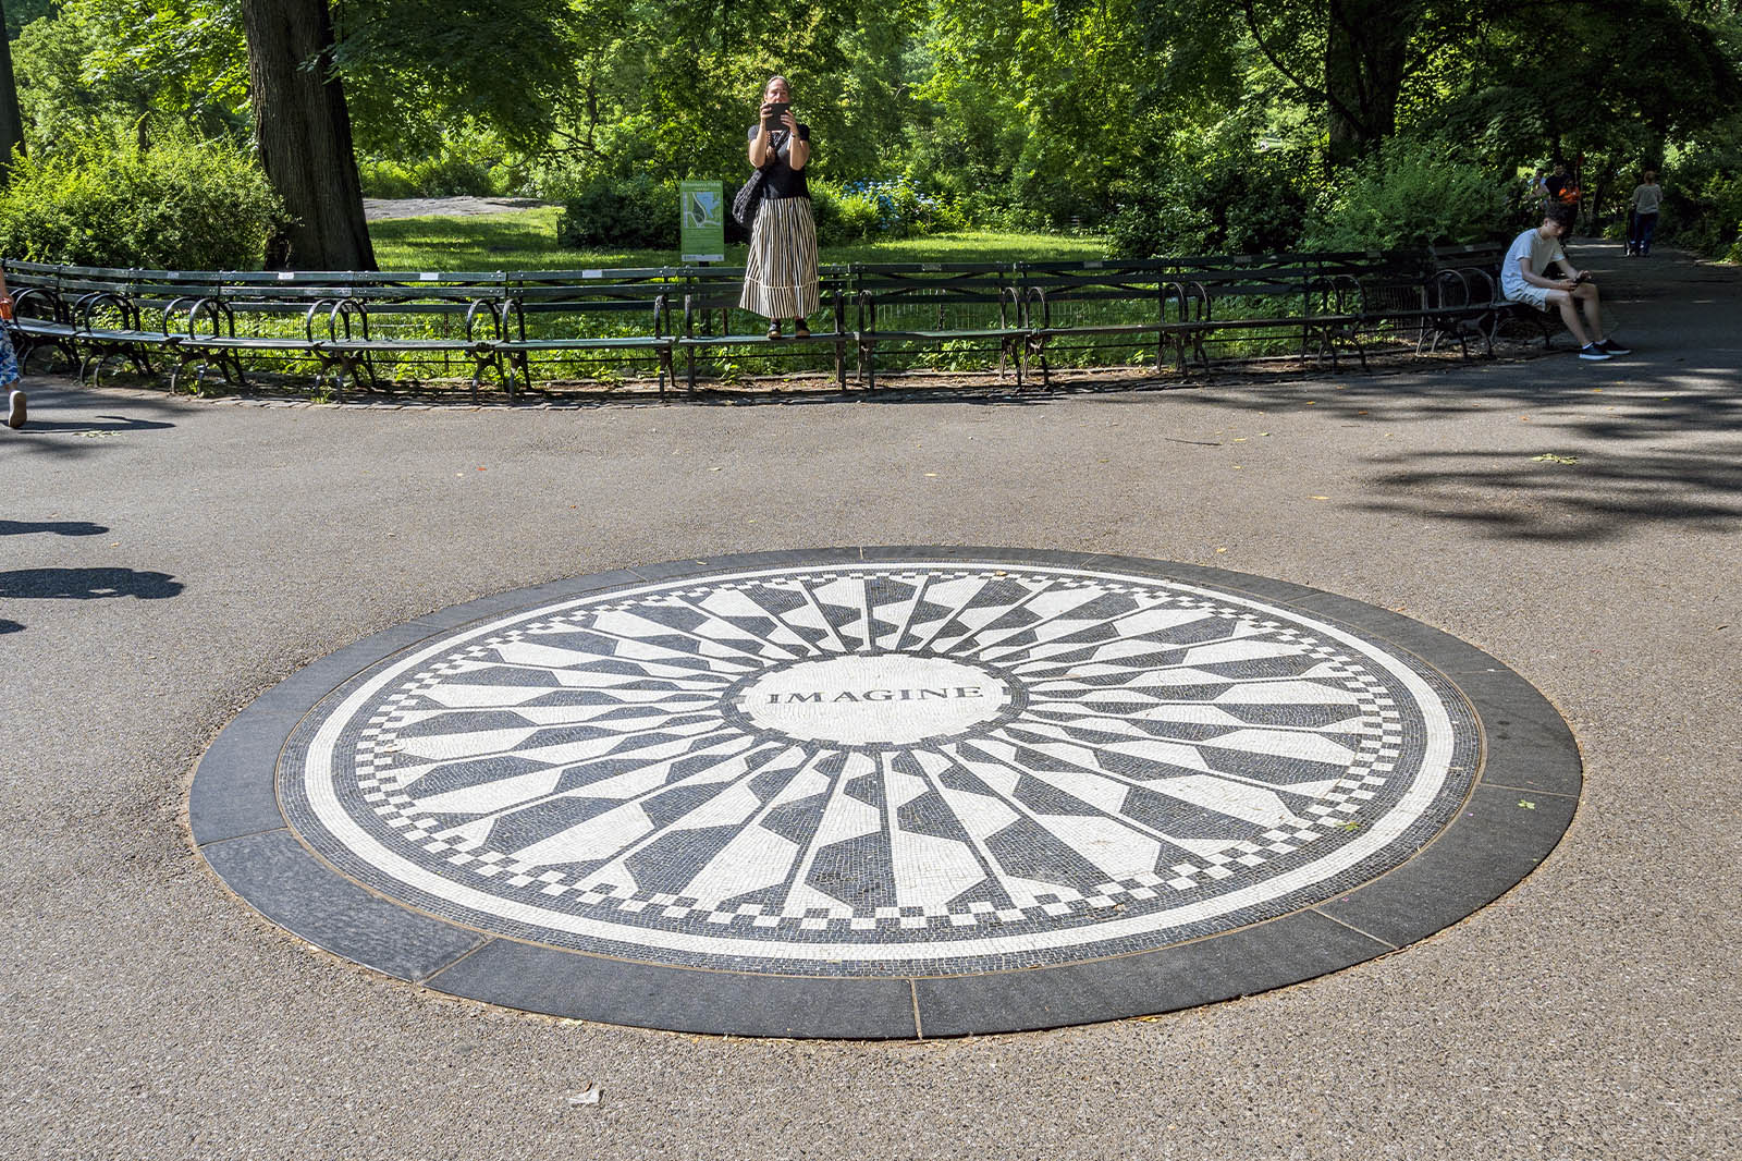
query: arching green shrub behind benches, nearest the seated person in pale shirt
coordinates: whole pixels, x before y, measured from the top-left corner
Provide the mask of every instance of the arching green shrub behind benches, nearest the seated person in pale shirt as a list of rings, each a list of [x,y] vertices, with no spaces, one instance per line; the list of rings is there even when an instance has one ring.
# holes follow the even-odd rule
[[[1301,244],[1306,249],[1406,249],[1479,242],[1512,221],[1503,180],[1439,141],[1394,138],[1343,176]]]

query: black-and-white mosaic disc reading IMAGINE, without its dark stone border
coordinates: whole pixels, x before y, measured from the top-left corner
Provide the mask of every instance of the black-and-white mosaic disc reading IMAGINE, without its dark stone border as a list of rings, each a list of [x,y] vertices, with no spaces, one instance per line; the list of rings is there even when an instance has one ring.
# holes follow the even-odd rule
[[[568,950],[794,974],[1049,966],[1320,903],[1456,814],[1418,659],[1155,575],[690,575],[376,664],[279,797],[345,875]]]

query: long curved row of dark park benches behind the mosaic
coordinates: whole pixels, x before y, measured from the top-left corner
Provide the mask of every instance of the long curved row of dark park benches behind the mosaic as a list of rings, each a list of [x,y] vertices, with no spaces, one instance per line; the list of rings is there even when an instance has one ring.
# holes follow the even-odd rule
[[[1040,363],[1052,384],[1061,352],[1146,347],[1157,370],[1172,352],[1185,370],[1211,368],[1216,343],[1256,354],[1329,357],[1352,349],[1366,366],[1371,336],[1416,328],[1430,342],[1484,335],[1502,312],[1495,265],[1502,248],[1435,255],[1266,255],[1150,261],[887,263],[824,267],[827,317],[808,340],[768,340],[765,322],[737,310],[740,268],[660,267],[514,274],[451,272],[165,272],[9,263],[21,354],[52,345],[101,373],[129,359],[171,366],[171,390],[216,371],[247,387],[275,363],[312,363],[314,375],[388,390],[404,368],[458,364],[474,399],[486,373],[510,401],[533,384],[535,363],[648,359],[658,387],[676,382],[685,354],[690,390],[712,359],[820,361],[833,354],[847,387],[847,347],[859,382],[876,387],[892,356],[948,364],[998,352],[1017,389]],[[681,305],[681,319],[678,309]],[[676,324],[674,324],[676,321]],[[1465,345],[1465,354],[1469,347]],[[1127,359],[1120,359],[1124,363]]]

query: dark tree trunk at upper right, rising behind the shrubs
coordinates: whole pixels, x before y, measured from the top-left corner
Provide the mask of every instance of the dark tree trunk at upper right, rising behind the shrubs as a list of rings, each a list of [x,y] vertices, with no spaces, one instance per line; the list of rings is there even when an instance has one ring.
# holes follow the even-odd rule
[[[1397,129],[1415,0],[1331,0],[1326,10],[1324,91],[1331,164],[1364,157]]]

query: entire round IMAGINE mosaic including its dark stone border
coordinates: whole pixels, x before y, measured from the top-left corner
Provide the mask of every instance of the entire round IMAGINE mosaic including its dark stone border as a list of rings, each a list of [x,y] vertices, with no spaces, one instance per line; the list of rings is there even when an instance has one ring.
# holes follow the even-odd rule
[[[298,936],[531,1011],[916,1037],[1230,999],[1404,947],[1549,854],[1559,715],[1293,584],[1012,549],[638,567],[268,690],[190,802]]]

